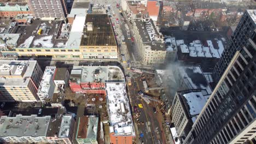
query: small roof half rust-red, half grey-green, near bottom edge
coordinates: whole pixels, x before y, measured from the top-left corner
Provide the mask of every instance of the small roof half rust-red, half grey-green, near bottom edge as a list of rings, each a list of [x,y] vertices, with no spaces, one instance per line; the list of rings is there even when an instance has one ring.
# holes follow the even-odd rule
[[[97,139],[98,117],[79,117],[78,132],[76,139]]]

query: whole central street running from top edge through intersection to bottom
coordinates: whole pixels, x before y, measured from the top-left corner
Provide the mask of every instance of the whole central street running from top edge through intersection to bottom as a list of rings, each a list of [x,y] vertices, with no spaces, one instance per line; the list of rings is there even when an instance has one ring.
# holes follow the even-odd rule
[[[110,10],[108,10],[108,14],[111,14],[111,21],[112,24],[115,26],[114,32],[117,35],[117,44],[119,45],[119,52],[120,55],[125,57],[126,62],[128,60],[131,61],[132,65],[140,65],[140,56],[138,53],[138,47],[136,41],[132,43],[131,39],[127,37],[127,28],[125,27],[125,23],[129,26],[129,31],[131,34],[131,38],[133,37],[132,33],[132,25],[130,24],[129,20],[127,20],[126,14],[123,11],[123,17],[120,15],[120,11],[117,8],[117,3],[119,1],[106,1],[100,2],[95,1],[95,3],[100,4],[110,4]],[[120,7],[120,6],[119,6]],[[113,14],[114,13],[114,14]],[[117,22],[118,19],[118,22]],[[124,21],[126,20],[126,21]],[[122,43],[122,35],[125,38],[125,44]],[[142,108],[138,107],[139,117],[136,118],[136,112],[133,111],[133,122],[136,130],[136,141],[137,143],[167,143],[166,141],[166,132],[162,128],[162,123],[164,120],[162,118],[162,114],[159,110],[158,104],[156,102],[151,101],[150,104],[145,103],[144,100],[138,98],[138,91],[143,89],[142,81],[139,81],[141,78],[139,74],[134,74],[130,70],[127,70],[127,63],[122,62],[121,64],[124,67],[125,75],[131,74],[132,75],[132,85],[128,87],[129,97],[131,100],[131,108],[133,109],[134,106],[138,106],[138,104],[142,104]],[[153,112],[153,107],[156,107],[157,113]],[[143,134],[143,136],[141,136]]]

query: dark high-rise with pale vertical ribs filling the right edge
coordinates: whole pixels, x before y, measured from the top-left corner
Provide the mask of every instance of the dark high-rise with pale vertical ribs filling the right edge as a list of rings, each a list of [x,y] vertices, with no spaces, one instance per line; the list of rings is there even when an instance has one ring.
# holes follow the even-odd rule
[[[232,35],[220,61],[229,64],[184,143],[256,143],[255,11],[246,10]]]

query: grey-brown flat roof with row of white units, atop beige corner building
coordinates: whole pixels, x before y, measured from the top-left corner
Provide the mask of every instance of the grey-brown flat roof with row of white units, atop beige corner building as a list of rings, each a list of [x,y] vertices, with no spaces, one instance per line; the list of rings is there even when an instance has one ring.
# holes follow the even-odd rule
[[[164,43],[157,40],[156,37],[159,37],[159,33],[156,30],[156,27],[153,21],[149,18],[146,18],[144,21],[141,19],[134,20],[136,27],[138,28],[139,34],[141,35],[142,42],[146,45],[151,46],[151,50],[165,51],[166,47]]]

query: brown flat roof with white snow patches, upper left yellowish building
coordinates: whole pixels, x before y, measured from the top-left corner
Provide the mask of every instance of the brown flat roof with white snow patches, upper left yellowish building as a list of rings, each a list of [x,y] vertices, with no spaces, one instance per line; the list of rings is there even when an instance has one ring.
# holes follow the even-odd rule
[[[12,33],[22,34],[18,41],[18,48],[62,48],[67,39],[56,39],[63,21],[34,20],[31,25],[15,26]],[[38,34],[42,29],[41,33]]]

